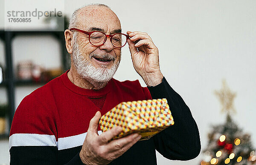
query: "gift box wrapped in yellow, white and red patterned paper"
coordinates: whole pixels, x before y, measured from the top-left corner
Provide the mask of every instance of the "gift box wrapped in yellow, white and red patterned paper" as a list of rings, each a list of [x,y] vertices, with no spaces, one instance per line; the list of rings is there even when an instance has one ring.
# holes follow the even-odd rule
[[[165,98],[121,102],[99,120],[103,132],[117,125],[122,127],[122,132],[113,139],[139,133],[142,136],[140,140],[146,140],[173,124]]]

